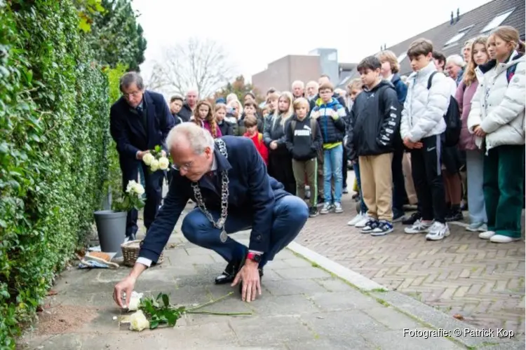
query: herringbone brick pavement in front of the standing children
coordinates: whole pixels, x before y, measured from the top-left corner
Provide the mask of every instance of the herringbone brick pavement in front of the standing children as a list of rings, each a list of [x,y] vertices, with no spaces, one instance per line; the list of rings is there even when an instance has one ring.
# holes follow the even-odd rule
[[[309,219],[297,243],[468,323],[524,334],[524,240],[492,244],[454,224],[443,241],[405,235],[401,223],[390,235],[371,237],[346,225],[356,215],[350,193],[342,205],[344,214]]]

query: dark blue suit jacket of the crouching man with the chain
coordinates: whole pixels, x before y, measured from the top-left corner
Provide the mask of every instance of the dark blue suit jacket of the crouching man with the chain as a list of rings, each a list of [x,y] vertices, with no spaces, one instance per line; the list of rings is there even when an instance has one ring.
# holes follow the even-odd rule
[[[276,200],[288,195],[283,185],[269,176],[261,155],[252,140],[247,137],[225,136],[221,138],[227,146],[228,159],[217,149],[214,151],[217,174],[199,180],[199,188],[208,210],[220,211],[221,171],[226,169],[229,176],[229,216],[253,217],[249,248],[267,252]],[[140,257],[157,261],[173,228],[189,199],[196,200],[191,181],[176,170],[170,183],[163,207],[151,224],[142,242]],[[217,181],[217,186],[213,186]]]

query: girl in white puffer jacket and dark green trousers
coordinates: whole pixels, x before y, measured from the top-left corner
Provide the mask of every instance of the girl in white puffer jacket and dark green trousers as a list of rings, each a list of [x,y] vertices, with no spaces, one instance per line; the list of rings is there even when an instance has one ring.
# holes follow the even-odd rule
[[[524,200],[526,62],[517,29],[492,31],[495,59],[477,66],[479,82],[471,100],[468,130],[485,153],[483,191],[487,231],[481,239],[520,239]]]

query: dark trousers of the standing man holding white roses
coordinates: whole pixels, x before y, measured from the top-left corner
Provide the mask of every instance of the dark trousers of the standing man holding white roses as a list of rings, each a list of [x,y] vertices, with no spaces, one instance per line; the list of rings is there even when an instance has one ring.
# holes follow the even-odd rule
[[[144,203],[144,226],[148,230],[157,216],[159,205],[161,205],[161,200],[163,199],[164,172],[158,171],[150,173],[148,167],[144,165],[143,162],[130,158],[121,157],[120,163],[123,191],[126,191],[128,181],[137,181],[139,167],[142,167],[142,172],[144,173],[144,184],[146,185],[144,188],[144,193],[146,194],[146,203]],[[126,217],[126,237],[130,237],[130,235],[135,235],[137,233],[137,216],[137,210],[132,209],[128,211],[128,216]]]

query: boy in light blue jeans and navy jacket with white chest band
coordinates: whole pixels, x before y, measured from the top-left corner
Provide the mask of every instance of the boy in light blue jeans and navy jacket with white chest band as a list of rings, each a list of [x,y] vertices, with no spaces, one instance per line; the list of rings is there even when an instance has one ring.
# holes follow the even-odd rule
[[[332,97],[334,87],[331,83],[321,84],[319,95],[316,99],[315,107],[311,112],[311,118],[318,120],[323,139],[323,197],[325,203],[320,214],[328,214],[334,209],[335,213],[343,213],[342,208],[342,166],[343,152],[342,141],[346,125],[345,107],[339,104],[338,100]],[[334,202],[331,202],[330,182],[335,181]]]

